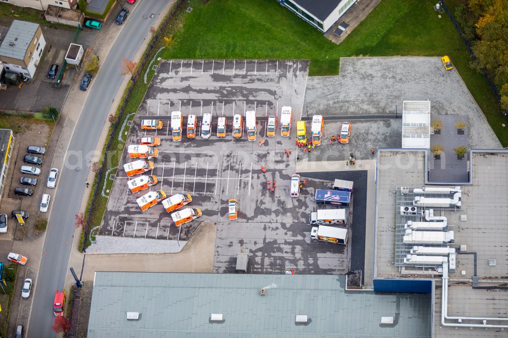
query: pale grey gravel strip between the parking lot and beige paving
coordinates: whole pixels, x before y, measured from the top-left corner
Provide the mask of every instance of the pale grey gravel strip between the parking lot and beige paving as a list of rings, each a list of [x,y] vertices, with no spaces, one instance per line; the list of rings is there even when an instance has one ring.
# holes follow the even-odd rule
[[[182,251],[187,241],[159,241],[145,238],[118,236],[97,236],[97,242],[86,249],[87,254],[122,253],[177,253]]]

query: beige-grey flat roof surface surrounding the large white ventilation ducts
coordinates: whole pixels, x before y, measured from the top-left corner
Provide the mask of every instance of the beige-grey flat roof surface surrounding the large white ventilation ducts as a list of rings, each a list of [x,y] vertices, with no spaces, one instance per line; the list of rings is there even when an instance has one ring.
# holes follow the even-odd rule
[[[476,271],[479,286],[503,285],[503,276],[508,271],[506,239],[508,238],[508,151],[473,151],[470,158],[472,184],[460,185],[462,188],[462,209],[442,210],[447,217],[449,229],[455,232],[454,248],[466,245],[465,251],[457,254],[455,273],[449,273],[448,315],[469,317],[507,318],[508,290],[477,289],[471,280]],[[402,275],[396,266],[397,196],[402,186],[425,185],[425,151],[380,150],[377,163],[376,184],[376,278],[432,278],[431,274]],[[429,186],[429,185],[427,185]],[[383,197],[383,198],[381,198]],[[438,212],[438,213],[437,213]],[[441,215],[440,208],[434,208],[434,215]],[[466,220],[463,219],[465,215]],[[438,245],[432,245],[438,246]],[[496,265],[488,264],[496,259]],[[434,305],[435,337],[478,337],[498,336],[495,328],[457,328],[441,325],[441,278],[436,282]],[[490,323],[489,323],[490,324]]]

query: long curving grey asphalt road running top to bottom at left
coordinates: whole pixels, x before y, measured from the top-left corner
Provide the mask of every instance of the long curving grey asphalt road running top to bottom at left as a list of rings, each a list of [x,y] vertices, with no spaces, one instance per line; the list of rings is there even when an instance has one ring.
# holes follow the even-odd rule
[[[88,174],[89,160],[86,156],[93,154],[97,147],[112,100],[123,81],[119,67],[122,58],[134,58],[150,26],[166,5],[167,2],[163,1],[141,2],[130,13],[101,66],[102,71],[92,80],[93,85],[89,88],[82,114],[66,153],[58,192],[51,201],[53,205],[51,226],[48,227],[43,250],[47,254],[42,255],[27,336],[55,336],[51,330],[54,321],[52,302],[55,290],[61,289],[65,283],[72,248],[65,243],[73,241],[74,215],[79,211],[85,189],[84,182]],[[150,18],[152,13],[155,16]],[[80,165],[78,161],[87,164]],[[78,171],[76,166],[85,167]],[[80,271],[79,266],[75,268]]]

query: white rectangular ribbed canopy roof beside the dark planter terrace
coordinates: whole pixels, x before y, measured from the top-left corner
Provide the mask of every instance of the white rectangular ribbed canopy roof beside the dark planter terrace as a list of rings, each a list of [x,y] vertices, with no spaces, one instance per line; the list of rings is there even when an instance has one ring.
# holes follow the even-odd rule
[[[402,148],[430,148],[430,101],[402,103]]]

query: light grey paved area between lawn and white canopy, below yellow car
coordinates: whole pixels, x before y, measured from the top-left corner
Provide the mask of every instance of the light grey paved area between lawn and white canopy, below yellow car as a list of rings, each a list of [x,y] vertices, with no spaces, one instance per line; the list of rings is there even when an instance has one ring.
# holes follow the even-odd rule
[[[339,76],[308,78],[304,107],[309,115],[400,114],[403,100],[430,100],[434,116],[467,116],[469,148],[501,148],[457,70],[445,71],[439,57],[341,58]]]

